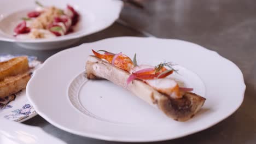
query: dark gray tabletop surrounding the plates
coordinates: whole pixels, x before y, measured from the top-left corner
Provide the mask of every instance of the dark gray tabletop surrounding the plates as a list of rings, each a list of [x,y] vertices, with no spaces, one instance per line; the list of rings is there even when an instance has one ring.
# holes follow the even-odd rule
[[[256,1],[144,0],[143,4],[144,10],[125,7],[120,19],[159,38],[187,40],[217,51],[238,65],[247,86],[243,104],[224,121],[199,133],[159,143],[256,143]],[[104,31],[84,37],[77,45],[119,36],[144,37],[114,23]],[[41,61],[58,51],[25,50],[13,43],[0,42],[0,53],[35,55]],[[67,143],[118,143],[67,133],[40,116],[24,123],[36,125]]]

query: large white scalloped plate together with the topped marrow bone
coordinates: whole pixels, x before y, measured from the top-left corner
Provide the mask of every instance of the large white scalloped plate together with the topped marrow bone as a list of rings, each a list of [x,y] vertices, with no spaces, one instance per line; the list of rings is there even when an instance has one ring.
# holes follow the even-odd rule
[[[238,109],[245,88],[241,70],[217,52],[182,40],[120,37],[56,53],[26,90],[38,114],[60,129],[149,142],[217,124]]]

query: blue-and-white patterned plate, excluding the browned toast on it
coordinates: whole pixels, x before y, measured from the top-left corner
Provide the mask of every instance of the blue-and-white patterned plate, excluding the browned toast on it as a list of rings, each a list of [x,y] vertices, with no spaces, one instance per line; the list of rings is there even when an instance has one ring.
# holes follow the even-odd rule
[[[0,62],[7,61],[8,59],[21,56],[21,55],[0,55]],[[37,57],[28,56],[28,63],[30,65],[31,72],[40,67],[41,62],[36,60]],[[36,116],[37,113],[33,109],[33,106],[29,103],[26,97],[26,89],[9,95],[4,98],[0,98],[0,118],[7,118],[15,122],[24,122]]]

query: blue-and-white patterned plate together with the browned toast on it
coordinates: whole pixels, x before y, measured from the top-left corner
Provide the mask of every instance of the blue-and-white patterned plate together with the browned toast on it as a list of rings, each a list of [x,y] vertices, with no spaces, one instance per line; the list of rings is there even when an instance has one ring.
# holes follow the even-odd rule
[[[40,64],[34,56],[0,55],[0,118],[24,122],[37,115],[25,88]]]

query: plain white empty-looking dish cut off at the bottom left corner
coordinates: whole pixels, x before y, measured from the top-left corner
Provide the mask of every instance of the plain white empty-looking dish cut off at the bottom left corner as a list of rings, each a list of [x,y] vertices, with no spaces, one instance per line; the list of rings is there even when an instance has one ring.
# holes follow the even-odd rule
[[[46,134],[38,127],[15,123],[0,118],[0,142],[2,144],[65,144],[65,142]]]

